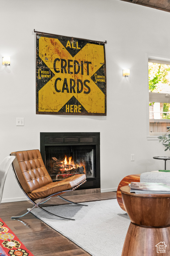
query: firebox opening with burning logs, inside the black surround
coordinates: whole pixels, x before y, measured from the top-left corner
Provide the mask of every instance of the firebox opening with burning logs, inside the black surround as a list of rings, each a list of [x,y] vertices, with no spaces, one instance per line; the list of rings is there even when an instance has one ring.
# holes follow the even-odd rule
[[[96,177],[95,146],[46,146],[46,168],[52,180],[63,180],[78,174]]]

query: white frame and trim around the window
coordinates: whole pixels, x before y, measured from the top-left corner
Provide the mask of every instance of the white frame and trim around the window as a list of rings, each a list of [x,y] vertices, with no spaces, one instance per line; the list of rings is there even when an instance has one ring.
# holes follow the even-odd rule
[[[154,100],[155,96],[156,96],[156,99],[157,101],[156,102],[159,102],[158,100],[160,98],[163,97],[163,99],[167,100],[167,103],[170,103],[170,95],[166,95],[165,93],[164,94],[159,94],[159,95],[156,95],[158,93],[149,93],[149,73],[148,73],[148,62],[153,62],[153,63],[158,63],[158,64],[166,64],[166,65],[170,65],[170,56],[161,56],[161,55],[156,55],[156,54],[149,54],[149,53],[146,53],[146,79],[147,79],[147,139],[148,140],[158,140],[158,136],[162,135],[162,134],[165,134],[166,132],[152,132],[150,133],[149,132],[149,96],[150,98],[152,98],[152,100]],[[155,95],[153,95],[155,94]],[[158,97],[159,96],[159,97]],[[155,102],[155,101],[153,101]],[[165,101],[166,103],[166,101]],[[166,119],[163,119],[163,120],[166,120]],[[170,119],[167,119],[169,120],[170,122]],[[167,122],[168,123],[168,122]],[[170,126],[170,125],[169,125]],[[152,135],[151,135],[152,134]]]

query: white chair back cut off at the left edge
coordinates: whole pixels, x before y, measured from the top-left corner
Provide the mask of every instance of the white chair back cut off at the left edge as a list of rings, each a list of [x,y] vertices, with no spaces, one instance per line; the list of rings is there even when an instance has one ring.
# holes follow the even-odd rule
[[[4,184],[6,180],[6,176],[9,170],[10,165],[14,161],[15,156],[7,156],[0,164],[0,203],[2,200],[2,193],[4,189]]]

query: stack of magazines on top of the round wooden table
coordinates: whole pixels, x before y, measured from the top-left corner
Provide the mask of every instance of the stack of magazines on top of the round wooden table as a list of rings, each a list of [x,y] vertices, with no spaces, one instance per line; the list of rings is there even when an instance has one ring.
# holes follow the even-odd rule
[[[170,184],[131,182],[130,192],[136,194],[170,194]]]

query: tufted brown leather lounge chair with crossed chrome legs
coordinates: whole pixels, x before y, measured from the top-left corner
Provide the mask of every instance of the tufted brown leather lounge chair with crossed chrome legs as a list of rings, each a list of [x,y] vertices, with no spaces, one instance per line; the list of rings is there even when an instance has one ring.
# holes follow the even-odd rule
[[[39,150],[12,152],[10,155],[15,156],[12,163],[14,175],[24,194],[33,203],[34,206],[32,209],[38,207],[51,215],[55,215],[42,208],[41,205],[47,202],[51,197],[59,196],[67,191],[73,191],[86,182],[85,174],[78,174],[62,181],[52,182]],[[59,197],[62,198],[61,196]],[[37,199],[41,200],[36,203],[35,201],[37,201]],[[87,206],[68,200],[66,201],[76,205]],[[23,217],[31,210],[21,216],[13,216],[11,218]],[[69,219],[59,215],[55,216],[63,219]]]

